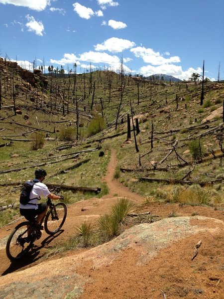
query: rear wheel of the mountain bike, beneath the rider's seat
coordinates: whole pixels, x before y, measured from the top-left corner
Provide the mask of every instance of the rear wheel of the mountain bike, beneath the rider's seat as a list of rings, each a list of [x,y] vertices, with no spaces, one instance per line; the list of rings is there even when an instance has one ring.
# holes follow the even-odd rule
[[[10,261],[21,259],[32,247],[32,238],[29,242],[25,242],[28,226],[30,226],[28,221],[22,222],[10,233],[6,243],[6,255]]]

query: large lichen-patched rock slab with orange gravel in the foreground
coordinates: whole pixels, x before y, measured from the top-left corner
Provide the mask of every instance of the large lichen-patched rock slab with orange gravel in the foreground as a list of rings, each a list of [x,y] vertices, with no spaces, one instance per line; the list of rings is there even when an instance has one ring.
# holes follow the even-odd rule
[[[135,225],[96,248],[1,276],[1,298],[145,299],[161,298],[163,289],[169,298],[196,299],[207,288],[203,298],[221,299],[223,276],[214,265],[222,269],[222,254],[210,256],[212,244],[223,249],[223,236],[224,221],[201,216]],[[192,262],[200,239],[204,248]]]

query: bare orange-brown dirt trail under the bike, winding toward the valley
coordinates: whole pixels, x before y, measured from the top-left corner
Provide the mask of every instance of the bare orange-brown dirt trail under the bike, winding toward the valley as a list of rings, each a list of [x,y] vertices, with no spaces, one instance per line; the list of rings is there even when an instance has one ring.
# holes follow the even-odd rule
[[[160,204],[160,203],[150,203],[148,205],[141,205],[144,202],[144,197],[139,196],[136,193],[129,191],[126,187],[122,186],[119,182],[113,179],[113,173],[116,167],[116,153],[112,149],[111,159],[108,165],[108,171],[106,176],[103,178],[106,181],[110,192],[103,198],[91,198],[88,200],[79,201],[68,207],[68,214],[65,224],[63,226],[63,231],[56,236],[48,236],[45,232],[39,242],[36,242],[36,247],[32,255],[27,257],[25,260],[17,263],[10,263],[5,255],[5,244],[10,234],[11,229],[15,227],[15,223],[0,228],[0,274],[5,275],[14,271],[20,271],[25,268],[32,267],[43,261],[42,257],[49,247],[66,240],[69,236],[73,235],[76,231],[76,226],[82,223],[84,220],[94,221],[104,213],[108,213],[112,204],[117,200],[117,197],[127,197],[136,203],[135,210],[139,212],[151,211],[151,213],[159,215],[161,218],[168,217],[170,214],[176,214],[178,216],[191,216],[193,213],[213,217],[220,220],[224,220],[223,211],[215,211],[213,208],[209,207],[192,207],[183,206],[180,207],[178,204]],[[20,219],[19,222],[22,222]],[[71,253],[68,253],[68,255]],[[73,253],[74,254],[74,253]]]

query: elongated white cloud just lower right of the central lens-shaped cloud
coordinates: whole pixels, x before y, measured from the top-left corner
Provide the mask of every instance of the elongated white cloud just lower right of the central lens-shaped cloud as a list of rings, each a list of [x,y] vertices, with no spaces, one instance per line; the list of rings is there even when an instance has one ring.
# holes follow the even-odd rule
[[[150,63],[152,65],[161,65],[166,63],[177,63],[180,62],[178,56],[173,56],[170,58],[164,58],[159,52],[155,52],[153,49],[145,47],[136,47],[130,49],[136,57],[140,57],[144,62]]]

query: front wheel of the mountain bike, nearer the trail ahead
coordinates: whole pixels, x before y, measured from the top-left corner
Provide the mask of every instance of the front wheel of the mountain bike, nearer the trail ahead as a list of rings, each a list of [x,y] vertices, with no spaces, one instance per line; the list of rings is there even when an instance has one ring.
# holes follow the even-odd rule
[[[44,220],[44,229],[48,235],[57,233],[65,222],[67,207],[64,202],[58,202],[51,208]]]

